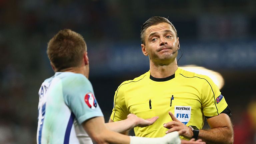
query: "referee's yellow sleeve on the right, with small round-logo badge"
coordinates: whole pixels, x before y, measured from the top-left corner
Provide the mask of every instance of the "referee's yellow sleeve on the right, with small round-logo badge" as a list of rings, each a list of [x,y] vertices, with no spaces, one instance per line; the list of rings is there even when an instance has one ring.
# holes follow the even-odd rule
[[[207,117],[219,115],[227,106],[218,86],[207,76],[202,86],[202,108]]]

